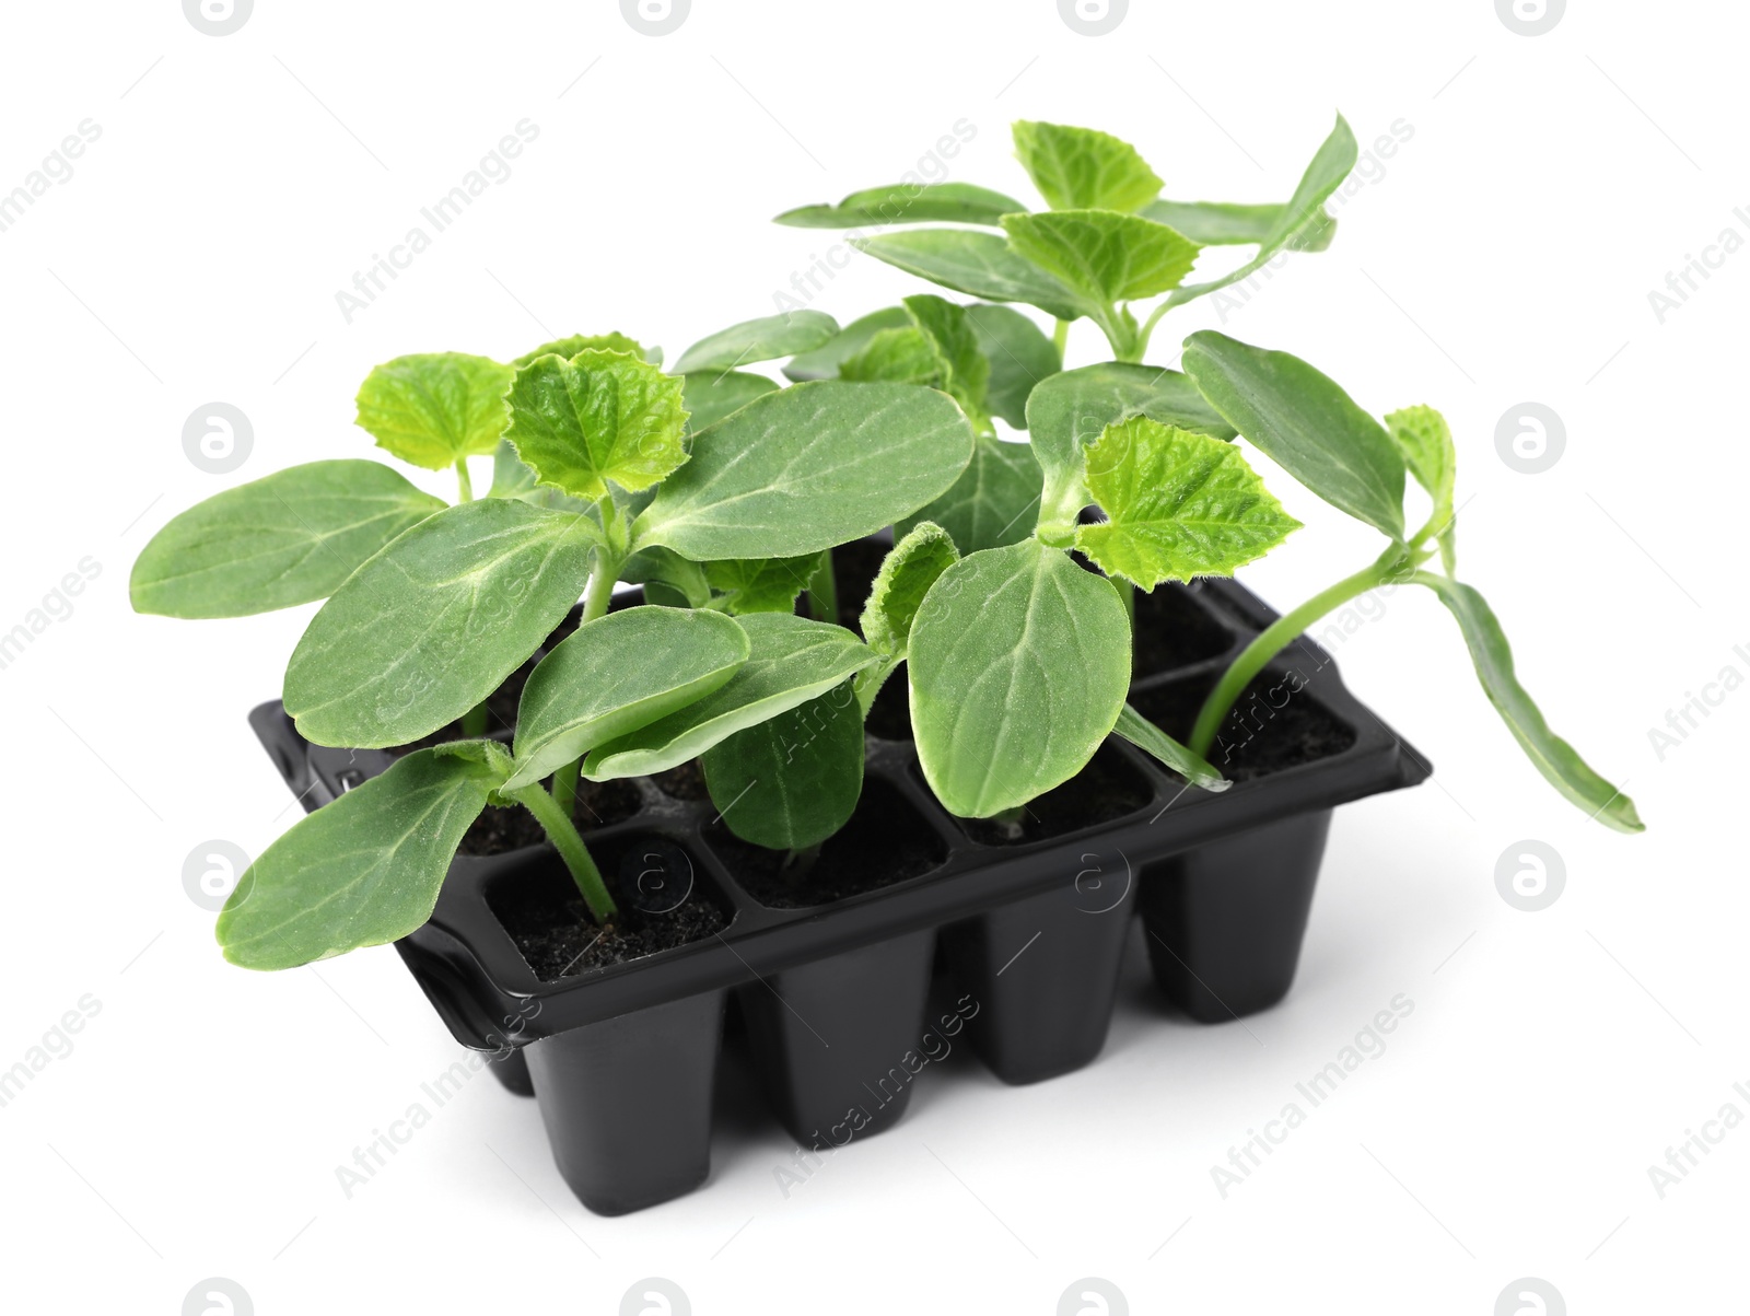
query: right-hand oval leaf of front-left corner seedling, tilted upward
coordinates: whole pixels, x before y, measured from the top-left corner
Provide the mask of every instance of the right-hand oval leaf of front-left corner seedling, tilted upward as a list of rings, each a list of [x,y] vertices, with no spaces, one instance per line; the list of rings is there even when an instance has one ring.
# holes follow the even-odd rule
[[[516,709],[518,789],[721,688],[747,662],[723,612],[628,607],[586,621],[528,677]]]

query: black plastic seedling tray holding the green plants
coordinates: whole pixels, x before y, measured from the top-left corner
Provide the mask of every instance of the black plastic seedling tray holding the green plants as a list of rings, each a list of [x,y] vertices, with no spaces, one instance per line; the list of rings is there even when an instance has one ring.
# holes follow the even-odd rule
[[[1130,700],[1176,735],[1276,618],[1232,581],[1138,595],[1136,616]],[[278,704],[250,721],[306,808],[392,763],[308,746]],[[1018,835],[934,802],[903,738],[903,676],[868,726],[863,802],[802,884],[732,836],[709,798],[676,798],[672,784],[630,784],[630,816],[588,833],[604,872],[644,891],[648,908],[712,903],[723,926],[702,940],[544,980],[508,931],[569,887],[537,844],[458,856],[430,922],[397,943],[455,1038],[492,1052],[513,1090],[532,1088],[560,1171],[593,1211],[651,1206],[707,1178],[730,992],[774,1113],[812,1148],[898,1120],[914,1074],[962,1031],[1010,1083],[1088,1064],[1132,912],[1157,982],[1194,1018],[1274,1004],[1298,962],[1332,808],[1430,774],[1306,637],[1253,684],[1211,754],[1230,789],[1188,788],[1113,738],[1029,805]],[[866,889],[808,905],[816,878]],[[936,966],[956,1004],[926,1018]]]

